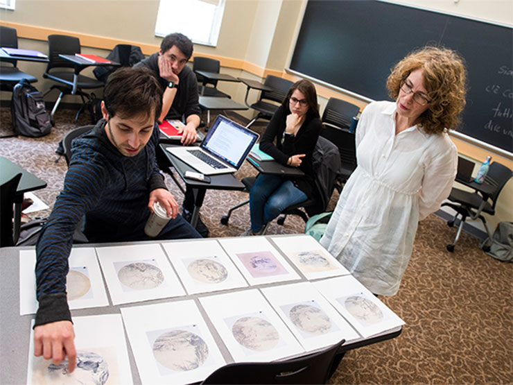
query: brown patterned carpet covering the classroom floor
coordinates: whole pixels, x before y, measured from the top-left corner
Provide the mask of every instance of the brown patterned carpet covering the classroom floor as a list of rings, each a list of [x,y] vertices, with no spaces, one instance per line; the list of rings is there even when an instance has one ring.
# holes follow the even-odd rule
[[[56,127],[46,137],[0,139],[0,155],[48,182],[36,194],[50,206],[67,169],[64,159],[55,164],[55,148],[74,127],[73,113],[58,111]],[[253,128],[261,132],[265,122]],[[10,112],[1,110],[0,135],[8,132]],[[245,164],[237,176],[255,174]],[[171,178],[166,181],[180,203],[181,192]],[[331,209],[337,198],[334,194]],[[234,212],[228,226],[220,224],[227,208],[245,199],[247,194],[237,191],[207,191],[201,214],[211,237],[236,236],[247,228],[247,205]],[[268,234],[303,230],[301,219],[289,217],[284,226],[272,223]],[[381,298],[406,321],[402,334],[348,352],[331,384],[513,384],[513,264],[489,257],[468,234],[448,253],[445,245],[454,233],[434,215],[420,223],[399,293]]]

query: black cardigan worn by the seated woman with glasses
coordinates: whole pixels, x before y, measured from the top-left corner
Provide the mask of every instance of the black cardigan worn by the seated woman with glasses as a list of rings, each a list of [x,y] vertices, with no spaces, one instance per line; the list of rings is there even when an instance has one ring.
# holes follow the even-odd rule
[[[266,131],[263,132],[260,140],[260,149],[284,165],[287,164],[287,160],[291,155],[306,154],[305,157],[302,157],[302,162],[299,166],[299,169],[304,172],[305,176],[291,180],[304,194],[311,196],[315,183],[312,153],[322,129],[322,123],[317,117],[307,116],[297,134],[295,136],[286,135],[284,142],[281,143],[288,114],[290,114],[290,110],[284,105],[280,105],[277,112],[272,116]],[[276,144],[273,143],[275,139]]]

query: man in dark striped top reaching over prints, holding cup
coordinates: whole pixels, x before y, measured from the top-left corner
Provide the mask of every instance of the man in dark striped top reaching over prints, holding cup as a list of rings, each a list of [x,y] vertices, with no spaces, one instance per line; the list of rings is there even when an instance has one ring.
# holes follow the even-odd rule
[[[166,189],[155,149],[162,110],[162,89],[148,69],[123,68],[107,79],[101,103],[103,119],[73,141],[64,189],[37,241],[35,268],[39,309],[34,354],[56,365],[76,363],[67,303],[68,257],[77,223],[92,242],[141,241],[144,225],[158,202],[171,220],[153,239],[200,238]]]

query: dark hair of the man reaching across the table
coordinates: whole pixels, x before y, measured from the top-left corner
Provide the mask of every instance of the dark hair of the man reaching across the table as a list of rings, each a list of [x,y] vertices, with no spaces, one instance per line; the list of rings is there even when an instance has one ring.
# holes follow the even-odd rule
[[[162,112],[162,87],[148,67],[123,67],[107,78],[103,102],[110,117],[149,117],[153,112],[157,120]]]

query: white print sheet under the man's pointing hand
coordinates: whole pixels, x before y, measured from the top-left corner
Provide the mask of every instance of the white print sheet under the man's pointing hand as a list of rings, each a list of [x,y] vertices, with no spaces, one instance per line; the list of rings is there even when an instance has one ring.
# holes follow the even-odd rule
[[[31,327],[27,384],[133,384],[120,314],[73,317],[73,329],[77,366],[69,374],[67,360],[55,366],[34,357]]]

